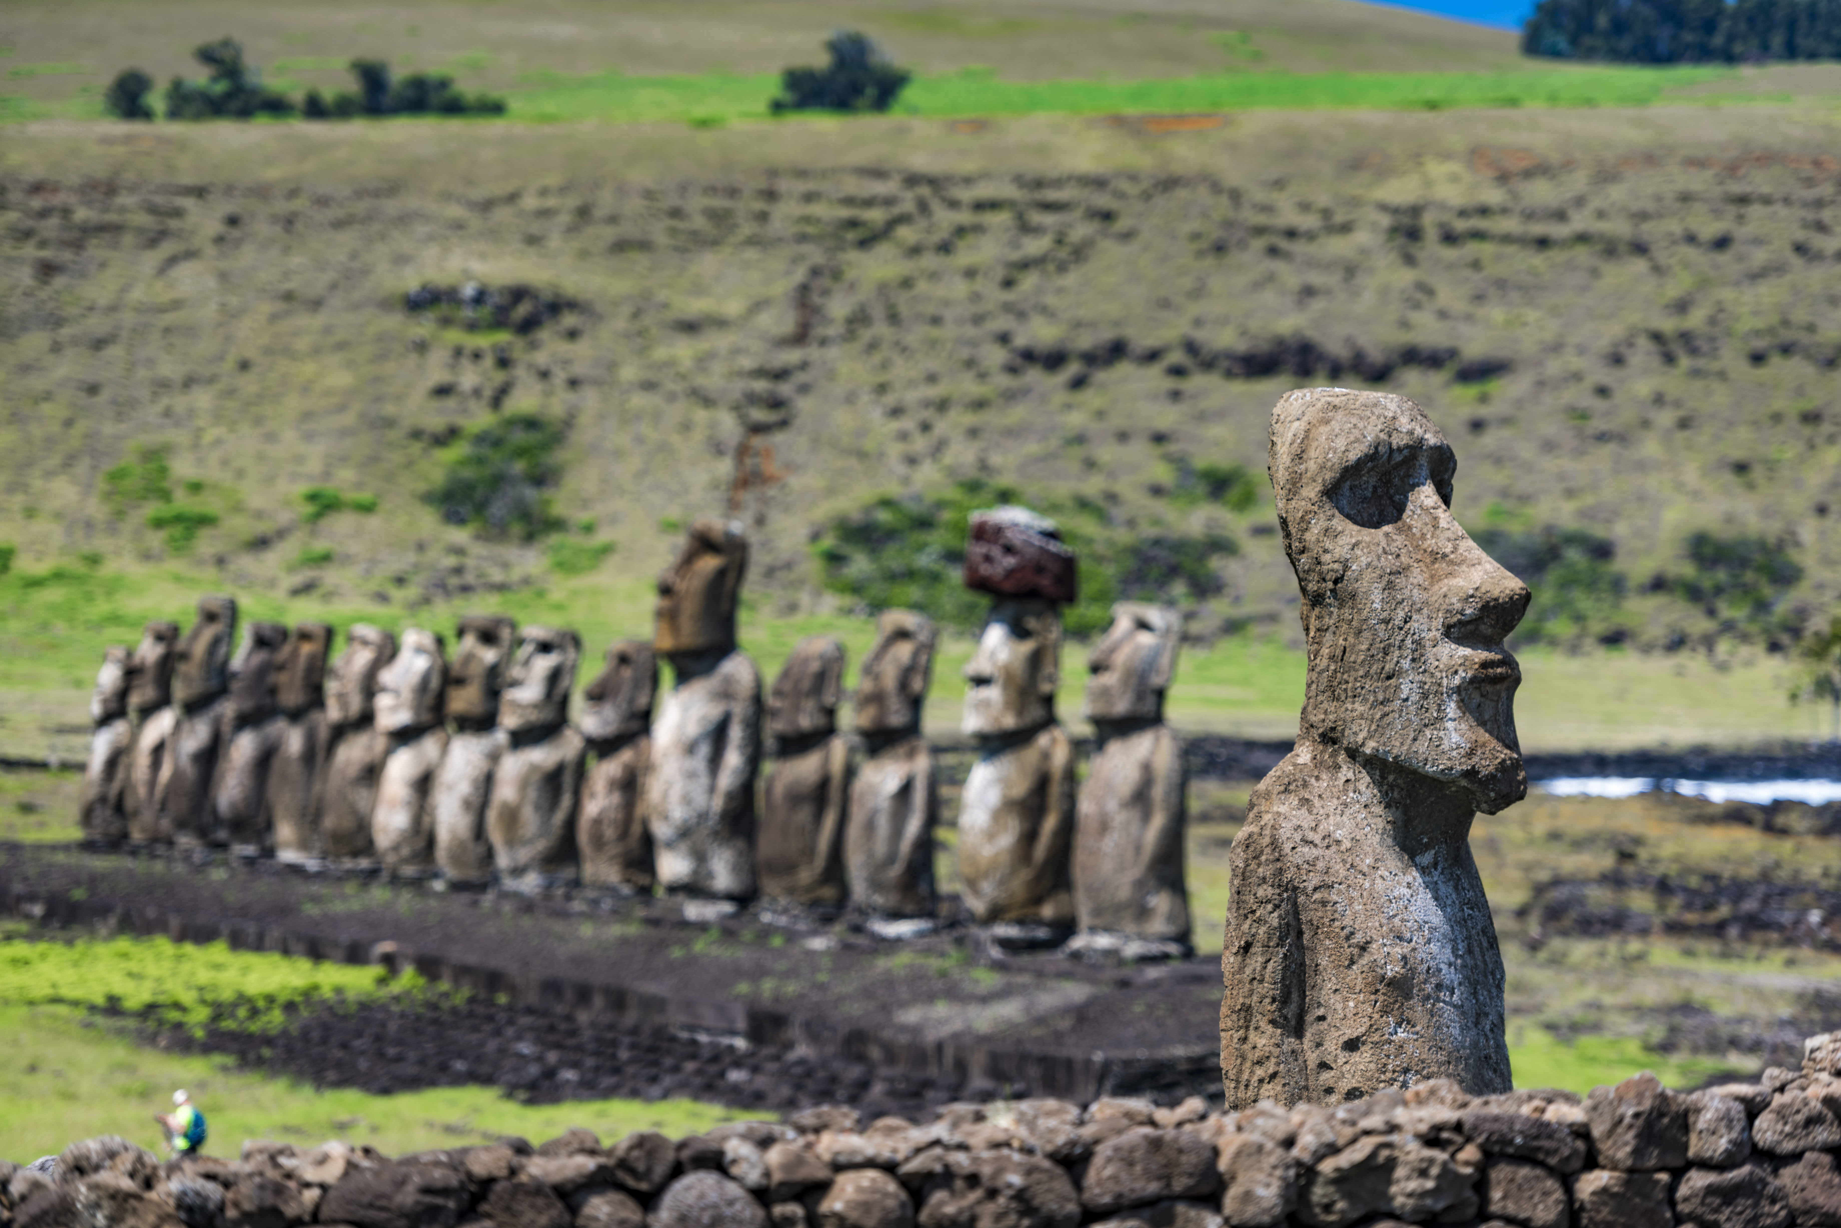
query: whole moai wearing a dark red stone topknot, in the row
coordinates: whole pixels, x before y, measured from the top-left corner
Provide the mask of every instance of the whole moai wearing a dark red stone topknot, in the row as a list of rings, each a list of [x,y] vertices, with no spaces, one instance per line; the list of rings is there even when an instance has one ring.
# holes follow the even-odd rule
[[[1059,943],[1073,924],[1073,744],[1055,724],[1073,550],[1027,508],[978,512],[965,584],[996,600],[965,666],[978,760],[959,803],[961,898],[974,921],[1002,926],[1000,941]]]

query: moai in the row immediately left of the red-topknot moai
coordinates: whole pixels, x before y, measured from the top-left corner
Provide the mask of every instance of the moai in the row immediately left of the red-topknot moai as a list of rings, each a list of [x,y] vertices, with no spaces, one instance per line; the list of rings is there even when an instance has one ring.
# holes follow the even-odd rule
[[[933,915],[939,790],[933,751],[920,736],[933,639],[924,615],[884,609],[856,687],[856,731],[867,757],[851,781],[843,863],[851,904],[882,917]]]

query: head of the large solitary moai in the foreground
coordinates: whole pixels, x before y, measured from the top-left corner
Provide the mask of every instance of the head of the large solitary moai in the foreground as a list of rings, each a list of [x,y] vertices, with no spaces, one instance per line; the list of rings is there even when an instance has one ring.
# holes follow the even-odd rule
[[[1300,740],[1462,788],[1497,814],[1528,792],[1528,589],[1451,517],[1451,446],[1416,403],[1302,388],[1272,411],[1270,473],[1309,652]]]

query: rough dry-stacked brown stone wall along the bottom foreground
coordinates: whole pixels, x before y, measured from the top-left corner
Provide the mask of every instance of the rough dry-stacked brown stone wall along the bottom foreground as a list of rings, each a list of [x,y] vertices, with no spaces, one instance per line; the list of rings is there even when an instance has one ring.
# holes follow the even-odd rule
[[[1642,1073],[1469,1097],[1451,1083],[1292,1110],[1200,1099],[828,1106],[602,1147],[571,1130],[388,1160],[243,1143],[160,1164],[120,1138],[0,1164],[0,1224],[136,1228],[1789,1228],[1841,1224],[1841,1033],[1802,1072],[1685,1095]]]

